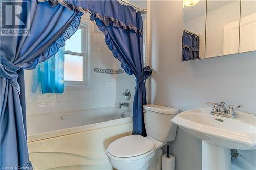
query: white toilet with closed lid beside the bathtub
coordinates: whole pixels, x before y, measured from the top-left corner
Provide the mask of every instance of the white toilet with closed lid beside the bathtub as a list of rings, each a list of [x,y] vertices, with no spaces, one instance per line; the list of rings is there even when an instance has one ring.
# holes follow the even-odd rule
[[[129,135],[113,141],[106,155],[118,170],[161,169],[162,146],[175,140],[177,126],[170,120],[178,109],[144,105],[147,137]]]

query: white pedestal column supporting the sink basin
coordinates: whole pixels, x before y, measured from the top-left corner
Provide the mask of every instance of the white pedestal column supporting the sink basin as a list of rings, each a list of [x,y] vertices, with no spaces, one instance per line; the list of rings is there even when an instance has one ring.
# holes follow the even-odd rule
[[[202,170],[231,169],[230,149],[202,141]]]

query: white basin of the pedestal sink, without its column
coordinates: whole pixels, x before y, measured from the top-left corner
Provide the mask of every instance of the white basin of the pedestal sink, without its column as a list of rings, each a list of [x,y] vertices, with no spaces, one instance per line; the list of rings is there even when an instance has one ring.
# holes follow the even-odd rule
[[[237,118],[211,115],[211,108],[185,111],[172,119],[181,129],[218,147],[256,149],[256,116],[236,110]]]

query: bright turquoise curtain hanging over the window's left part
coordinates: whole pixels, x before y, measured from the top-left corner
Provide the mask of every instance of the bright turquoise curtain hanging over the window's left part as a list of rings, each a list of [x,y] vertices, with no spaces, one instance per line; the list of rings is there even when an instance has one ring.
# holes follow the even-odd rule
[[[32,92],[36,93],[37,90],[42,94],[64,92],[64,47],[59,48],[54,56],[36,66]]]

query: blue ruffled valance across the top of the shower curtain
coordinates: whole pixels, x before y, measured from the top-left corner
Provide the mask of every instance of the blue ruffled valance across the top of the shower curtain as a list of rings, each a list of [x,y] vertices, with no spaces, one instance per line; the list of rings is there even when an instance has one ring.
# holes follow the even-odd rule
[[[45,2],[47,0],[38,1]],[[123,30],[138,32],[141,35],[143,34],[142,27],[138,27],[135,22],[136,16],[129,16],[129,14],[136,13],[136,10],[130,6],[122,5],[118,1],[48,0],[48,2],[51,7],[56,7],[58,4],[61,4],[77,13],[90,13],[92,21],[99,19],[106,26],[112,24],[114,27],[122,28]],[[102,7],[105,7],[104,10],[102,10]],[[122,13],[119,13],[119,11]],[[127,17],[127,14],[129,17]]]

